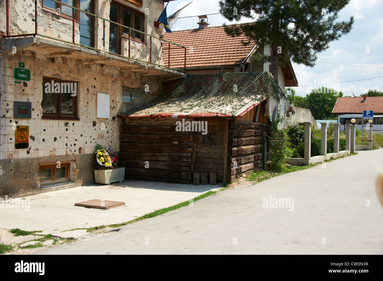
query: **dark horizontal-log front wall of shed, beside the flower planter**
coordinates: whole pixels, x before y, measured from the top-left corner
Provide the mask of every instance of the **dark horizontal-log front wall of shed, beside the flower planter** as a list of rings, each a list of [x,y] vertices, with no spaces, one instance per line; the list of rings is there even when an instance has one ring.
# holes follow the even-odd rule
[[[190,183],[193,136],[177,132],[175,121],[125,119],[120,127],[119,165],[126,167],[126,179]]]

